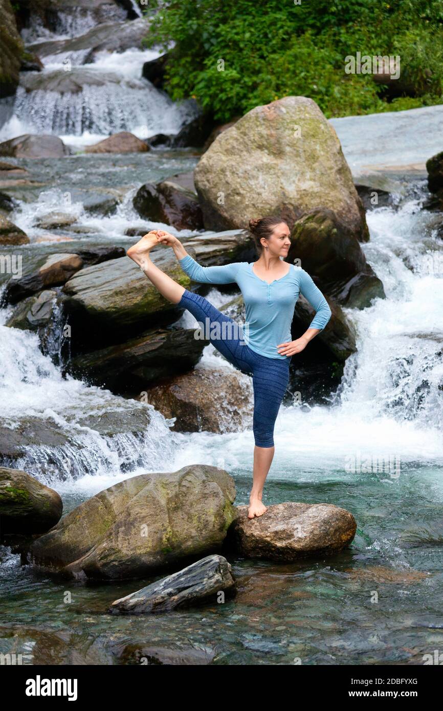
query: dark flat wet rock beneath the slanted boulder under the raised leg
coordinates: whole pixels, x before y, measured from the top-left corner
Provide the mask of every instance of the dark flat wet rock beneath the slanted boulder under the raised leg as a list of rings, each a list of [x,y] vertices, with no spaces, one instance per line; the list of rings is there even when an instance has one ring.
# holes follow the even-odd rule
[[[194,329],[155,328],[117,346],[78,355],[68,372],[116,393],[144,391],[171,373],[186,373],[201,358],[206,343]]]

